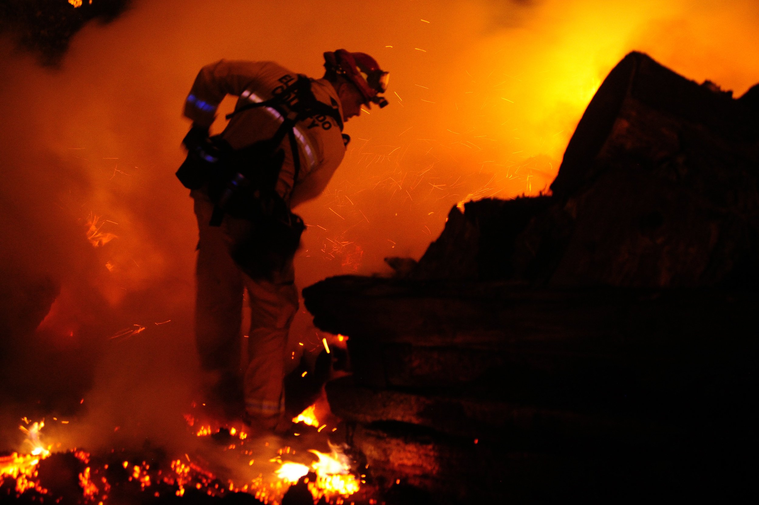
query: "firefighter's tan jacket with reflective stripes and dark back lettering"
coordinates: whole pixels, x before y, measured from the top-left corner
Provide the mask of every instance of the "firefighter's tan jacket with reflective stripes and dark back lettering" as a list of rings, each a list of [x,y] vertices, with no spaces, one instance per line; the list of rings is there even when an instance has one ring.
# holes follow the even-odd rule
[[[226,95],[239,97],[236,110],[272,98],[276,88],[284,89],[297,79],[298,74],[272,61],[221,60],[206,65],[197,74],[184,104],[184,115],[194,124],[209,127]],[[342,118],[342,104],[328,80],[311,80],[311,90],[320,102],[336,104]],[[319,196],[345,155],[340,128],[333,118],[319,121],[322,118],[307,118],[294,129],[301,162],[298,180],[293,180],[295,170],[288,137],[282,141],[285,162],[276,189],[291,207]],[[280,124],[282,117],[273,108],[250,108],[235,114],[222,136],[234,149],[241,149],[258,140],[270,139]]]

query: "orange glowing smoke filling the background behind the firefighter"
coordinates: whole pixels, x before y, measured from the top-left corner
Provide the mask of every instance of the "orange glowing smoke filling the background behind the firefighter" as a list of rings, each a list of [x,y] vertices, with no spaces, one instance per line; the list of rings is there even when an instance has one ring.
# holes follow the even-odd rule
[[[297,209],[310,225],[296,261],[305,287],[418,259],[458,202],[546,190],[587,102],[633,49],[739,96],[759,80],[757,26],[753,2],[183,0],[88,24],[55,69],[6,39],[3,289],[31,312],[55,303],[36,332],[13,327],[5,397],[78,412],[86,429],[72,444],[106,444],[116,426],[155,439],[178,429],[197,383],[197,231],[174,171],[204,64],[276,60],[321,77],[322,52],[346,48],[391,72],[391,105],[348,122],[342,166]],[[319,345],[304,311],[291,340]]]

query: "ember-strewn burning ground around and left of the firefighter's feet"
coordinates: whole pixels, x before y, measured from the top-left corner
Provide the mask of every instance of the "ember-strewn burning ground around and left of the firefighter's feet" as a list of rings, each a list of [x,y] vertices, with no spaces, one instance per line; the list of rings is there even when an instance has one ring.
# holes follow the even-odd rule
[[[203,406],[192,409],[197,415]],[[166,503],[178,497],[198,503],[230,496],[237,496],[235,503],[309,503],[298,497],[302,490],[312,502],[369,503],[372,487],[362,475],[366,469],[345,454],[347,447],[329,441],[326,434],[337,427],[317,428],[313,411],[310,406],[294,431],[282,438],[249,436],[244,426],[203,425],[187,414],[181,437],[185,453],[168,453],[150,441],[139,450],[60,450],[60,442],[48,443],[54,437],[43,433],[45,422],[22,419],[20,431],[26,438],[21,452],[0,456],[0,496],[20,503]],[[65,437],[61,425],[69,422],[52,422],[58,425],[53,432]],[[322,446],[326,453],[303,449]],[[293,491],[283,502],[291,485]]]

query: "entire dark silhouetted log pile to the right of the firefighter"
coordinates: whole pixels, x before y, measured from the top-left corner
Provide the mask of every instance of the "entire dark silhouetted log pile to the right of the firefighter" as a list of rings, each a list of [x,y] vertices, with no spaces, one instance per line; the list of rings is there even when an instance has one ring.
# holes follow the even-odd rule
[[[435,503],[752,492],[757,111],[757,86],[631,53],[552,195],[469,202],[395,278],[306,288],[350,337],[354,374],[326,389],[370,478]]]

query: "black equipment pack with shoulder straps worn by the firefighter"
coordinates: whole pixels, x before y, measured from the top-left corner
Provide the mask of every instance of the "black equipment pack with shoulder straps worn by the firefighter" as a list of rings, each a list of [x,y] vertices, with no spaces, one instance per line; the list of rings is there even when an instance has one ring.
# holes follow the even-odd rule
[[[291,110],[289,115],[282,108],[285,101]],[[343,125],[337,109],[313,96],[310,80],[305,76],[298,76],[294,84],[273,99],[245,105],[227,118],[249,108],[267,106],[285,118],[271,139],[232,149],[221,136],[208,138],[207,133],[203,135],[193,128],[183,140],[189,152],[176,175],[188,189],[207,188],[216,205],[210,225],[219,226],[224,214],[249,221],[247,233],[235,241],[230,254],[250,278],[270,280],[273,272],[280,271],[292,259],[305,230],[303,219],[291,212],[276,191],[285,160],[285,152],[280,148],[282,140],[287,135],[290,141],[295,181],[300,171],[295,124],[323,114],[334,118],[340,130]]]

